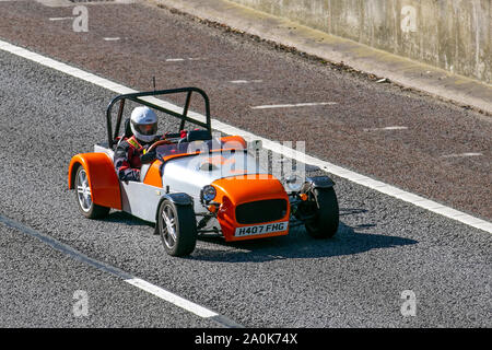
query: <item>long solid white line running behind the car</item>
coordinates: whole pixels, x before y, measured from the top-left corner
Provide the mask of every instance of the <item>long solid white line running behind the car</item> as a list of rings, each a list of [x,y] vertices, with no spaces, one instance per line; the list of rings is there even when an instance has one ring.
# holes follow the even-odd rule
[[[137,92],[133,89],[130,89],[128,86],[115,83],[115,82],[113,82],[113,81],[110,81],[108,79],[104,79],[104,78],[97,77],[95,74],[85,72],[85,71],[83,71],[81,69],[71,67],[69,65],[66,65],[66,63],[62,63],[62,62],[59,62],[59,61],[56,61],[56,60],[54,60],[51,58],[47,58],[45,56],[42,56],[39,54],[26,50],[26,49],[24,49],[22,47],[14,46],[14,45],[9,44],[7,42],[0,40],[0,49],[4,50],[4,51],[8,51],[8,52],[11,52],[13,55],[20,56],[20,57],[24,57],[24,58],[30,59],[32,61],[35,61],[35,62],[37,62],[39,65],[43,65],[43,66],[52,68],[55,70],[58,70],[60,72],[67,73],[67,74],[71,75],[71,77],[82,79],[84,81],[87,81],[87,82],[93,83],[93,84],[95,84],[97,86],[101,86],[101,88],[105,88],[105,89],[107,89],[109,91],[113,91],[115,93],[118,93],[118,94],[127,94],[127,93],[134,93],[134,92]],[[172,110],[177,110],[178,113],[183,112],[183,107],[178,107],[178,106],[176,106],[176,105],[174,105],[172,103],[168,103],[168,102],[155,98],[155,97],[145,97],[145,101],[155,103],[155,104],[157,104],[157,105],[160,105],[162,107],[165,107],[165,108],[168,108],[168,109],[172,109]],[[190,117],[197,118],[197,119],[199,119],[201,121],[206,120],[206,116],[203,116],[201,114],[198,114],[198,113],[195,113],[195,112],[189,112],[188,115]],[[306,153],[303,153],[303,152],[300,152],[297,150],[288,148],[288,147],[285,147],[283,144],[280,144],[279,142],[274,142],[274,141],[271,141],[271,140],[266,139],[266,138],[261,138],[261,137],[259,137],[257,135],[254,135],[254,133],[251,133],[249,131],[242,130],[239,128],[233,127],[233,126],[231,126],[229,124],[225,124],[225,122],[222,122],[220,120],[212,119],[211,121],[212,121],[212,128],[215,129],[215,130],[219,130],[221,132],[229,133],[229,135],[242,136],[246,141],[261,140],[262,147],[266,150],[270,150],[272,152],[282,154],[284,156],[289,156],[289,158],[291,158],[291,159],[293,159],[295,161],[303,162],[305,164],[311,164],[311,165],[318,166],[319,168],[321,168],[323,171],[325,171],[327,173],[330,173],[330,174],[333,174],[336,176],[345,178],[345,179],[348,179],[348,180],[350,180],[352,183],[355,183],[355,184],[365,186],[367,188],[377,190],[379,192],[386,194],[386,195],[395,197],[397,199],[401,199],[401,200],[410,202],[410,203],[412,203],[412,205],[414,205],[417,207],[427,209],[427,210],[430,210],[432,212],[435,212],[435,213],[438,213],[438,214],[441,214],[443,217],[446,217],[446,218],[459,221],[461,223],[465,223],[465,224],[467,224],[469,226],[472,226],[472,228],[476,228],[476,229],[479,229],[479,230],[492,233],[492,223],[489,222],[489,221],[471,217],[471,215],[469,215],[469,214],[467,214],[465,212],[461,212],[461,211],[455,210],[453,208],[443,206],[443,205],[437,203],[435,201],[432,201],[430,199],[420,197],[418,195],[414,195],[414,194],[411,194],[409,191],[402,190],[402,189],[400,189],[398,187],[395,187],[395,186],[385,184],[383,182],[373,179],[373,178],[367,177],[365,175],[358,174],[358,173],[349,171],[349,170],[347,170],[344,167],[335,165],[335,164],[332,164],[330,162],[319,160],[319,159],[311,156],[311,155],[308,155]]]

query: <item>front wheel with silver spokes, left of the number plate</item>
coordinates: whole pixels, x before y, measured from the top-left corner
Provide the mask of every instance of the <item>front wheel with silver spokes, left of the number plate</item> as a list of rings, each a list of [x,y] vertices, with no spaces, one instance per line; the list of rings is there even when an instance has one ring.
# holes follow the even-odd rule
[[[157,231],[171,256],[187,256],[197,245],[197,221],[192,206],[179,206],[165,199],[159,207]]]

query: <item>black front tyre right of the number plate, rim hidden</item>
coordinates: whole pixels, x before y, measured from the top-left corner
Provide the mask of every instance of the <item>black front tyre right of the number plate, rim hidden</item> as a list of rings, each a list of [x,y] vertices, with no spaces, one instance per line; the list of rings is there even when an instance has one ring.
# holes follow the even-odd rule
[[[304,226],[314,238],[330,238],[338,230],[339,209],[333,188],[315,188],[308,192],[314,219],[306,220]]]

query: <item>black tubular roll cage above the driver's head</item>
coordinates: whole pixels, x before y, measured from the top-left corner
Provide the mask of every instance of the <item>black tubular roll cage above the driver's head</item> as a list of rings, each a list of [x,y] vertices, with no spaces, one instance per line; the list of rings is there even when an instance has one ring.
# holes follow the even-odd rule
[[[194,92],[200,94],[203,97],[204,107],[206,107],[206,122],[188,117],[189,105],[190,105],[190,102],[191,102],[191,94]],[[183,108],[183,114],[179,114],[177,112],[167,109],[165,107],[162,107],[162,106],[159,106],[159,105],[153,104],[151,102],[142,100],[142,97],[148,97],[148,96],[179,94],[179,93],[186,93],[187,94],[186,95],[185,107]],[[113,149],[113,145],[116,144],[117,137],[120,135],[119,133],[119,129],[121,127],[122,112],[124,112],[124,108],[125,108],[125,102],[127,100],[137,102],[139,104],[142,104],[142,105],[148,106],[150,108],[154,108],[154,109],[160,110],[160,112],[164,112],[164,113],[166,113],[166,114],[168,114],[171,116],[174,116],[174,117],[180,119],[181,121],[179,124],[179,130],[183,130],[185,128],[185,122],[188,121],[188,122],[196,124],[196,125],[198,125],[200,127],[203,127],[207,130],[209,130],[210,133],[212,133],[212,126],[211,126],[211,121],[210,121],[210,102],[209,102],[209,96],[206,94],[206,92],[203,90],[198,89],[198,88],[178,88],[178,89],[169,89],[169,90],[154,90],[154,91],[148,91],[148,92],[137,92],[137,93],[118,95],[115,98],[113,98],[112,102],[109,103],[109,105],[107,106],[106,125],[107,125],[107,141],[108,141],[109,149]],[[119,103],[119,108],[118,108],[118,115],[117,115],[117,118],[116,118],[115,132],[113,135],[112,110],[113,110],[113,106],[118,101],[120,101],[120,103]]]

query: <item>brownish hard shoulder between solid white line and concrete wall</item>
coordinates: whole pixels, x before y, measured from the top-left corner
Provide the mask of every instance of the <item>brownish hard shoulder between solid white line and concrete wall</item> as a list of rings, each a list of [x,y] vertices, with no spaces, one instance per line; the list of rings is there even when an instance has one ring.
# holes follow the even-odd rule
[[[7,42],[137,90],[152,77],[160,89],[202,88],[220,120],[492,220],[490,116],[164,9],[86,5],[87,32],[74,32],[72,7],[0,7]],[[305,103],[335,104],[253,108]]]

